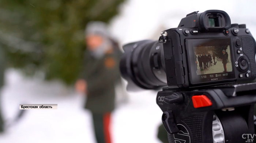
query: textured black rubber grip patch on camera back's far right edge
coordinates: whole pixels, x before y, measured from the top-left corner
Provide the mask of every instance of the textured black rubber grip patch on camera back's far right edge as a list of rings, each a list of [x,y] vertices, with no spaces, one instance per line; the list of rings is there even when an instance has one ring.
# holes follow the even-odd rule
[[[242,36],[241,40],[244,54],[249,58],[250,61],[252,78],[256,78],[255,42],[251,36]]]

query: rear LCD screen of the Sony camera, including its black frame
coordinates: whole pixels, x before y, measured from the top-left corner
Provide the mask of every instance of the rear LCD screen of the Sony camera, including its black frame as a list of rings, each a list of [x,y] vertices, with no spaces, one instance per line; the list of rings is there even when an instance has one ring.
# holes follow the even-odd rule
[[[186,43],[192,84],[235,78],[230,38],[187,39]]]

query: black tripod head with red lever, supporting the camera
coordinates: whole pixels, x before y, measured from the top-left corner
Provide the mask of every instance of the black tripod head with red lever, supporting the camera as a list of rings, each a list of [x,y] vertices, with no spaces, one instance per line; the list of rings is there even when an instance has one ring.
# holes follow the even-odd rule
[[[163,88],[157,104],[169,143],[253,142],[255,95],[256,83],[182,91]]]

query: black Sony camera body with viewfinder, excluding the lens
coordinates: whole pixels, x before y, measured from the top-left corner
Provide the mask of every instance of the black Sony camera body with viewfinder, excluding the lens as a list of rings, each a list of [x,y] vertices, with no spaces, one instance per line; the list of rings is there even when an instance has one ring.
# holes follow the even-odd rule
[[[246,82],[256,78],[256,43],[245,24],[220,10],[192,12],[162,32],[169,88]],[[209,56],[210,55],[210,56]]]

